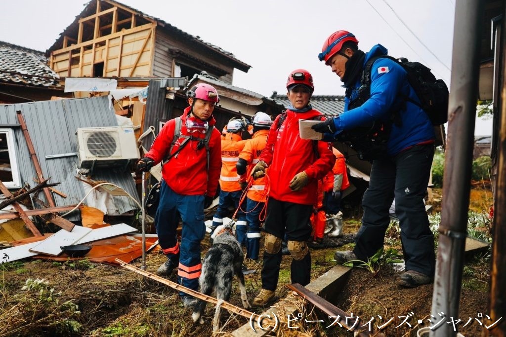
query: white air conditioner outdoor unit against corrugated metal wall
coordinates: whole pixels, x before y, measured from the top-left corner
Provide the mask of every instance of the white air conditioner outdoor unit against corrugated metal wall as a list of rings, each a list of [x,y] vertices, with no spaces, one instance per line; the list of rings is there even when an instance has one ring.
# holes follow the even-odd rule
[[[140,158],[133,127],[77,129],[79,168],[127,166]]]

